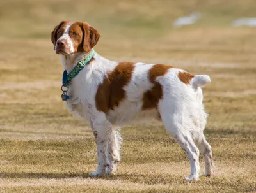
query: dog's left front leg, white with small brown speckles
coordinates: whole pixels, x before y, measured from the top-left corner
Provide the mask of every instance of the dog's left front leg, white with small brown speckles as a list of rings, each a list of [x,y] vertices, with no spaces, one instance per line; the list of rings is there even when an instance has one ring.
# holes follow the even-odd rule
[[[112,124],[106,119],[91,118],[91,125],[97,144],[98,164],[97,171],[90,173],[90,176],[100,176],[104,175],[106,168],[109,166],[108,139],[112,132]]]

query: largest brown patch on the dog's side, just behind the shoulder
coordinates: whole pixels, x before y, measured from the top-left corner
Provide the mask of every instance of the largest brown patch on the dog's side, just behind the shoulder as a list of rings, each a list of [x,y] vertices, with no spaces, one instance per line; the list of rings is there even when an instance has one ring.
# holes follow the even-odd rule
[[[108,113],[119,105],[125,98],[124,87],[130,82],[134,63],[120,62],[116,68],[108,73],[103,83],[98,86],[95,95],[96,108],[98,111]]]

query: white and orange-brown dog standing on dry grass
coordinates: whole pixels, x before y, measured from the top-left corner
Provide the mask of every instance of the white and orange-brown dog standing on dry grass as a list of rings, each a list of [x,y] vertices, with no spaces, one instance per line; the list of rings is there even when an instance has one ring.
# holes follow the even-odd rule
[[[109,61],[93,50],[99,38],[99,31],[88,23],[68,21],[57,25],[51,38],[55,52],[61,54],[63,78],[70,75],[68,84],[63,82],[63,100],[74,117],[90,123],[97,143],[97,171],[90,175],[116,171],[122,143],[116,128],[156,118],[188,155],[191,174],[186,179],[199,179],[199,150],[205,176],[211,176],[212,151],[203,134],[207,114],[201,89],[210,77],[163,64]]]

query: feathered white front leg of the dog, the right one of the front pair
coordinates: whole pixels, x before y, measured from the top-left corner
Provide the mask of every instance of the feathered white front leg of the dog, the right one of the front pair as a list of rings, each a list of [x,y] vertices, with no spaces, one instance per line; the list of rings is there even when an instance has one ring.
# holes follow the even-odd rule
[[[109,167],[106,170],[107,174],[115,173],[118,169],[118,162],[120,162],[120,148],[122,145],[122,137],[118,132],[118,129],[113,129],[109,136],[108,145],[108,156],[109,156]]]

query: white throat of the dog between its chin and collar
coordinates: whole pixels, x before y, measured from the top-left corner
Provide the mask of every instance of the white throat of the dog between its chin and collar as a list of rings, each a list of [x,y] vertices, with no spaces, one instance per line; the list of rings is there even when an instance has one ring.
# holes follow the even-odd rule
[[[67,70],[67,73],[70,73],[70,71],[72,71],[77,62],[84,59],[86,54],[86,52],[76,52],[72,55],[61,55],[61,64],[63,68]]]

